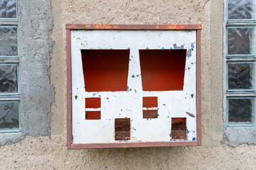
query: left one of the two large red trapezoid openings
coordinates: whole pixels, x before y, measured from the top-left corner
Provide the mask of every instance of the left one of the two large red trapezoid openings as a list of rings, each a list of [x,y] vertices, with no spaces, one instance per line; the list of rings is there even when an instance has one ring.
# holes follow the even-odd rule
[[[85,91],[127,91],[129,50],[81,50]]]

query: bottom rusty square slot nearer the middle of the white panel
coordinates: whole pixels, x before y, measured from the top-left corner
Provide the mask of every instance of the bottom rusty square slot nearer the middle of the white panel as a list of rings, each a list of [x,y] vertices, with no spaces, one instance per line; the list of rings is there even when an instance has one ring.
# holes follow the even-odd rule
[[[131,139],[131,119],[117,118],[114,120],[114,140]]]

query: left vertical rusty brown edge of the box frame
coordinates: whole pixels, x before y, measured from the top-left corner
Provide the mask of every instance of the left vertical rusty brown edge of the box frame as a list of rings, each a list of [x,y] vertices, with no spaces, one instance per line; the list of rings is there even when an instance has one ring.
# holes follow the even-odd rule
[[[71,149],[72,134],[72,70],[71,70],[71,37],[70,30],[66,30],[67,38],[67,147]]]

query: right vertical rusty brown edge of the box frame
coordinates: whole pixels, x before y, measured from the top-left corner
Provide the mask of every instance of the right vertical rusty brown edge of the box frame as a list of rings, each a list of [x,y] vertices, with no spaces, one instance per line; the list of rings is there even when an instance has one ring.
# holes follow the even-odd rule
[[[201,128],[201,30],[196,31],[196,137],[202,145]]]

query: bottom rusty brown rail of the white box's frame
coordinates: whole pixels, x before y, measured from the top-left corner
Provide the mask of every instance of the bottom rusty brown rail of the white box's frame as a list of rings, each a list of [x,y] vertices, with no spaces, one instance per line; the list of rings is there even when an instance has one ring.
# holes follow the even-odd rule
[[[90,148],[113,148],[113,147],[193,147],[198,142],[119,142],[119,143],[95,143],[95,144],[72,144],[71,149]]]

